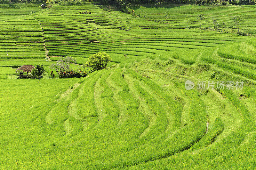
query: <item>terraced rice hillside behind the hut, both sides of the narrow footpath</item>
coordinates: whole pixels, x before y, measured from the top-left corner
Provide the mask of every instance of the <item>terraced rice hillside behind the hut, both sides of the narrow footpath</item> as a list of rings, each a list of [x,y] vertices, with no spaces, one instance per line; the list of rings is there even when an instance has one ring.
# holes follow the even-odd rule
[[[21,7],[17,4],[13,8]],[[79,14],[80,11],[92,14]],[[83,64],[91,54],[107,52],[114,62],[121,62],[124,55],[138,59],[180,48],[204,49],[245,39],[234,34],[164,25],[119,11],[103,14],[96,5],[54,5],[31,15],[23,14],[21,11],[20,17],[8,16],[10,21],[4,19],[0,23],[4,31],[1,60],[42,61],[47,53],[53,60],[72,56]],[[6,57],[8,49],[9,57]]]

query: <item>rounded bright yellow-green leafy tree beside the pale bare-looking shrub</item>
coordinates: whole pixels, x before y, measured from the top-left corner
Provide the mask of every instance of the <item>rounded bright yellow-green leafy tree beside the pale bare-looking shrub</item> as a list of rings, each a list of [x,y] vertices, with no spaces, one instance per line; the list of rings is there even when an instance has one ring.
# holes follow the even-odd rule
[[[107,66],[107,63],[112,61],[107,53],[96,53],[89,57],[85,66],[92,67],[94,71],[102,70]]]

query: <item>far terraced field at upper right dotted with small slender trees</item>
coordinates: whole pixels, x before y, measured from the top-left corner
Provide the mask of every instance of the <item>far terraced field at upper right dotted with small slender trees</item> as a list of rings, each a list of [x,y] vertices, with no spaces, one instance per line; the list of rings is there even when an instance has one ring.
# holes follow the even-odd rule
[[[250,34],[255,35],[255,6],[217,6],[217,5],[169,5],[169,6],[132,6],[132,10],[135,10],[135,14],[141,15],[144,18],[144,12],[146,13],[145,19],[161,19],[166,20],[165,12],[168,12],[167,22],[171,25],[179,25],[189,28],[200,28],[199,20],[196,18],[199,14],[205,16],[202,22],[203,28],[212,28],[215,18],[219,24],[219,28],[223,28],[223,21],[225,27],[236,30],[233,17],[241,15],[242,21],[240,22],[240,28]],[[216,24],[217,28],[217,24]]]

